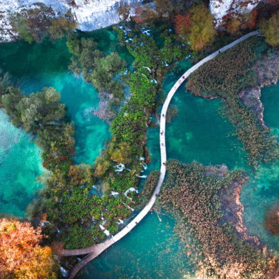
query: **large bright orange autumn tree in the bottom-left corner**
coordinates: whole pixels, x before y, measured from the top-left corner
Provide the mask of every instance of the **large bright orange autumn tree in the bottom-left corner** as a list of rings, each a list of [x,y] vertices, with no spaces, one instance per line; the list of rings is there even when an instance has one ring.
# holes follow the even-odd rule
[[[56,279],[58,262],[42,238],[28,222],[0,219],[0,278]]]

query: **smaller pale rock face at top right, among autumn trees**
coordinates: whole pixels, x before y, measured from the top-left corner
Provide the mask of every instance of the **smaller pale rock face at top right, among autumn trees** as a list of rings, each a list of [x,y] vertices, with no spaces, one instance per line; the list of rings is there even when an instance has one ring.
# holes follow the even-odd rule
[[[217,25],[222,23],[223,16],[229,14],[245,14],[253,10],[260,0],[210,0],[209,9],[215,16]]]

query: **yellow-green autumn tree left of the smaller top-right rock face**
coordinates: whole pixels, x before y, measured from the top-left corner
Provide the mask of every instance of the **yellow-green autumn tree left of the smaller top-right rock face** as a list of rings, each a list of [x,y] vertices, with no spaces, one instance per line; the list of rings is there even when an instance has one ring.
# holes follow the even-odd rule
[[[189,41],[195,51],[204,50],[214,42],[213,16],[207,7],[199,4],[192,8]]]

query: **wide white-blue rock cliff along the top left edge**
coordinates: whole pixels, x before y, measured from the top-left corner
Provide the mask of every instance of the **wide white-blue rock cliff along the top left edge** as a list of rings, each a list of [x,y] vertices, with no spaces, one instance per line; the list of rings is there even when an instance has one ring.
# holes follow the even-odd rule
[[[11,31],[9,13],[39,8],[43,3],[56,15],[64,15],[71,10],[73,18],[79,23],[78,29],[92,31],[116,24],[120,21],[116,10],[120,3],[135,6],[142,0],[0,0],[0,41],[11,41],[17,34]],[[133,14],[133,8],[131,9]]]

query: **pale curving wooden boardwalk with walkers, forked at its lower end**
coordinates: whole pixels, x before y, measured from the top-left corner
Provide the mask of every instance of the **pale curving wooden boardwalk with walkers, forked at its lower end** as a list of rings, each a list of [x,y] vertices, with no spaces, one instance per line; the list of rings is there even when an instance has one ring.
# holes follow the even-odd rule
[[[186,80],[186,78],[195,70],[197,70],[200,66],[202,66],[204,63],[207,61],[213,59],[216,57],[220,52],[224,52],[227,49],[231,48],[232,46],[235,46],[239,44],[240,42],[246,40],[247,38],[251,36],[258,35],[257,31],[253,31],[249,34],[246,34],[245,36],[237,39],[236,41],[232,42],[231,44],[224,46],[220,48],[219,50],[215,51],[214,53],[210,54],[203,60],[201,60],[199,63],[194,65],[192,68],[187,70],[181,78],[178,79],[178,81],[174,84],[170,92],[167,94],[167,97],[164,101],[162,112],[161,112],[161,119],[160,119],[160,148],[161,148],[161,170],[160,170],[160,177],[158,184],[154,190],[154,193],[152,194],[152,197],[150,198],[148,204],[140,211],[140,213],[120,232],[118,232],[115,236],[112,238],[106,240],[103,243],[89,246],[87,248],[83,249],[73,249],[73,250],[62,250],[59,255],[60,256],[77,256],[77,255],[84,255],[88,254],[85,256],[82,260],[80,260],[70,271],[70,274],[68,276],[68,279],[73,279],[77,273],[80,271],[81,268],[84,267],[85,264],[90,262],[93,258],[99,256],[104,250],[106,250],[108,247],[113,245],[116,241],[121,239],[123,236],[125,236],[128,232],[130,232],[136,225],[140,222],[140,220],[148,213],[148,211],[153,207],[156,196],[159,194],[161,186],[163,184],[164,176],[165,176],[165,163],[166,162],[166,149],[165,149],[165,116],[167,112],[168,105],[170,103],[170,100],[174,93],[177,91],[177,89],[182,85],[183,81]],[[184,76],[184,78],[183,78]],[[163,135],[161,135],[161,132],[163,131]]]

